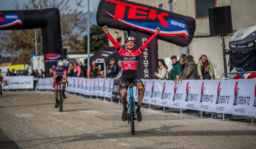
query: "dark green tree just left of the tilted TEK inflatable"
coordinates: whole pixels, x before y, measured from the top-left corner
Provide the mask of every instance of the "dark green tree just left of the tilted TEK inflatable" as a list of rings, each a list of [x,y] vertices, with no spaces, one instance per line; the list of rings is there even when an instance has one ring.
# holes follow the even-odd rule
[[[84,36],[85,52],[87,52],[87,35]],[[101,26],[90,27],[90,53],[95,53],[100,47],[108,47],[107,35],[102,31]]]

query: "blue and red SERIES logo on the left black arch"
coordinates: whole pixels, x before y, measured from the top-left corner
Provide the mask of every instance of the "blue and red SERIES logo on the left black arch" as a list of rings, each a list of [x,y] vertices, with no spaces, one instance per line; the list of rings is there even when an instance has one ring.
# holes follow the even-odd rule
[[[21,18],[16,13],[3,14],[0,12],[0,28],[9,28],[16,25],[22,26]]]

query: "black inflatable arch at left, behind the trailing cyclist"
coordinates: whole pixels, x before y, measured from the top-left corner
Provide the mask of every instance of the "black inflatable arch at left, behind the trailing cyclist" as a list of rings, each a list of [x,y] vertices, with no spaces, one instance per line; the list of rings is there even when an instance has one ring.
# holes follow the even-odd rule
[[[41,28],[45,70],[61,57],[62,40],[58,9],[0,11],[0,30]]]

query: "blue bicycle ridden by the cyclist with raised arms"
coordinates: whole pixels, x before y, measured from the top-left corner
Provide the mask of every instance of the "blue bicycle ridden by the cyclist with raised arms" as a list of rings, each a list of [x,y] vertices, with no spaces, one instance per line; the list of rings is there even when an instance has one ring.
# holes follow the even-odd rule
[[[136,108],[135,108],[135,101],[133,96],[133,86],[137,84],[129,83],[127,84],[129,87],[129,101],[128,101],[128,123],[131,124],[131,133],[134,135],[134,120],[136,120]]]

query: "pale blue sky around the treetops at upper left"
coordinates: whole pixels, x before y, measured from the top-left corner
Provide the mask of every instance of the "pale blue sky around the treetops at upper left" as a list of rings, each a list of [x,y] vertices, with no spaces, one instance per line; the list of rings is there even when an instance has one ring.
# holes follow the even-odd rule
[[[27,0],[0,0],[0,11],[10,11],[14,10],[13,4],[15,4],[15,1],[18,1],[18,5],[22,8],[24,4],[27,3]],[[61,0],[56,0],[56,1],[61,1]],[[88,0],[83,0],[82,5],[85,5],[85,10],[83,12],[87,12],[87,1]],[[100,0],[89,0],[90,2],[90,11],[97,11],[97,6],[100,3]],[[70,6],[71,8],[75,9],[75,1],[70,0]],[[1,33],[1,32],[0,32]],[[4,51],[0,52],[1,56],[10,56],[9,54],[4,53]]]

